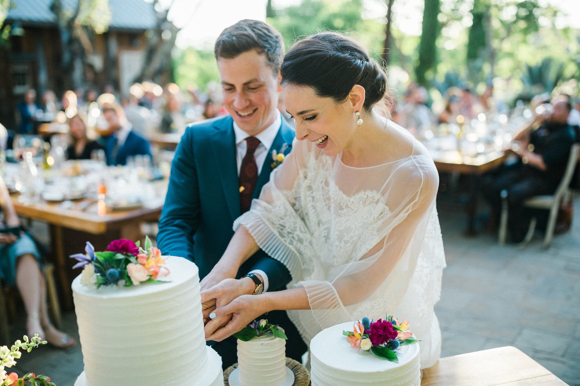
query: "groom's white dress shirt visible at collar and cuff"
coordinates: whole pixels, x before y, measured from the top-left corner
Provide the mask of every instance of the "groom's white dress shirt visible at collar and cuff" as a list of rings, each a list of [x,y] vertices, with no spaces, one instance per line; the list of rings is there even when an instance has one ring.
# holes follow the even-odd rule
[[[265,130],[256,134],[256,138],[260,141],[260,144],[256,148],[254,152],[254,158],[256,159],[256,166],[258,166],[258,175],[262,173],[262,166],[264,162],[266,162],[266,157],[271,154],[271,147],[272,143],[274,143],[274,139],[278,134],[278,130],[280,130],[280,126],[282,125],[282,118],[280,116],[280,111],[277,111],[276,119],[274,122],[268,126]],[[242,160],[246,155],[246,150],[248,145],[246,143],[246,139],[250,137],[250,134],[246,133],[244,130],[240,129],[240,126],[237,125],[234,121],[234,132],[235,132],[235,161],[238,164],[238,176],[240,176],[240,168],[242,167]],[[274,149],[276,150],[276,149]],[[264,281],[264,292],[268,290],[268,276],[266,272],[262,270],[252,270],[248,272],[248,274],[258,274],[262,276],[262,280]]]

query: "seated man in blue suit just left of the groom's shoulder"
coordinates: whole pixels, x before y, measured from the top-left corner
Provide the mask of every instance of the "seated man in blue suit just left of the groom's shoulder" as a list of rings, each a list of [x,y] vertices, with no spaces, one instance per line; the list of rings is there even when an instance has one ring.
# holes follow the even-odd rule
[[[125,112],[118,104],[103,107],[103,116],[107,120],[111,136],[105,144],[107,165],[125,165],[128,156],[151,156],[149,143],[139,134],[133,132],[133,126],[125,117]]]

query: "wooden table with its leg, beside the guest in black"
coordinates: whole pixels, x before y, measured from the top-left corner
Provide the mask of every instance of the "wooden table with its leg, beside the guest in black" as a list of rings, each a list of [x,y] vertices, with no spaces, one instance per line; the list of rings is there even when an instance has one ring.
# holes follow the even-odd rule
[[[466,235],[476,235],[475,217],[479,198],[481,174],[503,165],[507,155],[504,151],[494,151],[475,156],[462,155],[459,151],[435,152],[433,161],[439,173],[460,173],[470,176],[469,202],[467,202]]]

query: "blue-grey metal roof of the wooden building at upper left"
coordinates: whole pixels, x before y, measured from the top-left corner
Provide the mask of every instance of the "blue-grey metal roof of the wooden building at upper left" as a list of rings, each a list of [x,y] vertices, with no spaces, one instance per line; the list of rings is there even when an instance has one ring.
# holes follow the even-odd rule
[[[61,0],[65,9],[75,9],[79,0]],[[24,24],[55,24],[50,10],[53,0],[12,0],[6,20]],[[152,2],[144,0],[109,0],[113,17],[109,28],[114,30],[148,30],[155,27]]]

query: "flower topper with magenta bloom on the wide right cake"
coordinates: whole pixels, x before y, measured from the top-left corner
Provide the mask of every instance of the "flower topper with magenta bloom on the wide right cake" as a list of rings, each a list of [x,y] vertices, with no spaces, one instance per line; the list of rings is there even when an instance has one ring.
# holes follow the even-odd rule
[[[409,322],[405,319],[398,323],[393,316],[387,316],[385,320],[371,322],[365,317],[361,322],[354,322],[353,331],[343,331],[342,334],[350,347],[371,351],[379,358],[398,362],[397,348],[418,342],[408,329]]]

